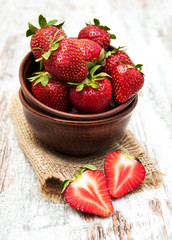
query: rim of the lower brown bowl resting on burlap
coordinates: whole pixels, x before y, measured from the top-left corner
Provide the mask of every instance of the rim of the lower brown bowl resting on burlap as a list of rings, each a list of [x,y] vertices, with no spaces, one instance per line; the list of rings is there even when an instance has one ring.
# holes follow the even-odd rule
[[[62,125],[78,125],[78,126],[83,126],[83,125],[101,125],[104,123],[108,123],[109,121],[113,121],[113,120],[119,120],[120,118],[125,118],[126,116],[128,116],[128,114],[131,114],[131,112],[134,110],[134,108],[137,105],[138,102],[138,95],[136,95],[136,97],[133,99],[132,103],[126,108],[124,109],[122,112],[120,112],[119,114],[107,117],[107,118],[103,118],[103,119],[96,119],[96,120],[91,120],[91,121],[79,121],[79,120],[72,120],[72,119],[64,119],[64,118],[57,118],[57,117],[53,117],[50,115],[47,115],[45,113],[40,112],[37,109],[34,109],[32,106],[29,105],[29,103],[26,101],[26,99],[23,96],[23,92],[21,87],[19,88],[19,98],[20,101],[23,105],[23,107],[25,107],[27,110],[29,110],[30,112],[32,112],[34,115],[37,115],[40,118],[44,118],[47,121],[51,121],[51,122],[58,122]]]

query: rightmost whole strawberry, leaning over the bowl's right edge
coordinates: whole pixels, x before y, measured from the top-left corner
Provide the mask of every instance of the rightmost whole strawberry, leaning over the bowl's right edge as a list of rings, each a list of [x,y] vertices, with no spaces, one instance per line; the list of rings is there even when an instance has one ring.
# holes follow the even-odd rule
[[[135,67],[127,64],[119,64],[111,72],[114,100],[118,103],[126,102],[137,93],[144,84],[142,65]]]

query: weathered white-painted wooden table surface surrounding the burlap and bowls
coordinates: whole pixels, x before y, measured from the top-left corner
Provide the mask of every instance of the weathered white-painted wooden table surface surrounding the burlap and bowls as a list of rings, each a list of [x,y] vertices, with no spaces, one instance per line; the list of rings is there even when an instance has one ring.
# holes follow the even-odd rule
[[[172,1],[0,0],[0,240],[172,239]],[[144,65],[145,85],[129,128],[164,173],[157,189],[113,201],[108,218],[88,217],[65,203],[45,202],[32,166],[18,145],[8,104],[29,51],[27,22],[42,13],[65,20],[68,36],[97,17]]]

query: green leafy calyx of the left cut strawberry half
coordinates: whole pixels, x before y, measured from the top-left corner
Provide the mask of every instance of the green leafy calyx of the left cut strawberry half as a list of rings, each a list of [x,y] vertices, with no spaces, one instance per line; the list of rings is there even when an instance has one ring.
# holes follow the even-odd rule
[[[73,175],[72,178],[66,179],[66,180],[64,180],[64,181],[61,183],[61,189],[62,189],[62,192],[61,192],[61,193],[63,193],[63,192],[65,191],[65,189],[67,188],[67,186],[68,186],[71,182],[76,182],[79,178],[81,178],[83,172],[86,171],[87,169],[90,169],[90,170],[92,170],[92,171],[97,170],[97,168],[96,168],[95,166],[89,165],[89,164],[80,167],[79,170],[75,172],[75,174]]]

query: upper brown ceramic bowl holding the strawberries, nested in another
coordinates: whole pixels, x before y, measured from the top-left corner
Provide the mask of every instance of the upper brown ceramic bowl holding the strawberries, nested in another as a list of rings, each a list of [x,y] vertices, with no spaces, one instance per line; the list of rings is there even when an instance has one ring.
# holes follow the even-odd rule
[[[51,107],[46,106],[37,100],[31,93],[31,84],[28,81],[28,77],[32,76],[32,74],[39,70],[39,64],[35,62],[34,56],[31,52],[29,52],[21,62],[19,69],[19,79],[21,88],[27,102],[35,109],[44,112],[46,114],[50,114],[52,116],[57,116],[66,119],[74,119],[74,120],[95,120],[95,119],[103,119],[109,116],[113,116],[120,111],[123,111],[130,103],[135,99],[136,95],[134,95],[127,102],[117,105],[117,107],[110,109],[103,113],[98,114],[74,114],[68,112],[62,112]]]

